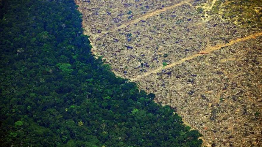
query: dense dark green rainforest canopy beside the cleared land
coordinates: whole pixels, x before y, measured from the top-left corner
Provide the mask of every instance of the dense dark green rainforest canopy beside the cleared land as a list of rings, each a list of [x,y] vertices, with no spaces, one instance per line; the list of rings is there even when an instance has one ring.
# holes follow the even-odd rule
[[[0,1],[1,147],[198,147],[169,106],[91,53],[73,0]]]

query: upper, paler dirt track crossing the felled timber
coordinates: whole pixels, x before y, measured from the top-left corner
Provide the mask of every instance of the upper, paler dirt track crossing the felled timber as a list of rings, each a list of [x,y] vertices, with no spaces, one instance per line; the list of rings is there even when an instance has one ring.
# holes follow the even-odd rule
[[[123,23],[121,26],[114,27],[114,28],[112,28],[112,29],[109,29],[108,31],[102,31],[101,34],[96,34],[96,35],[94,35],[94,37],[96,37],[96,38],[97,38],[97,37],[100,37],[100,36],[102,36],[102,35],[104,35],[104,34],[106,34],[106,33],[109,33],[109,32],[112,32],[112,31],[116,31],[116,30],[118,30],[118,29],[121,29],[121,28],[127,27],[127,26],[129,26],[129,25],[138,23],[140,20],[146,20],[146,19],[151,18],[151,17],[153,17],[153,16],[155,16],[155,15],[159,15],[159,14],[162,13],[162,12],[165,12],[166,10],[173,9],[173,8],[178,7],[178,6],[181,6],[181,5],[183,5],[183,4],[189,4],[190,2],[191,2],[191,0],[186,0],[186,1],[182,1],[182,2],[180,2],[180,3],[174,4],[174,5],[171,5],[171,6],[168,6],[168,7],[164,7],[163,9],[155,10],[155,11],[153,11],[153,12],[150,12],[150,13],[146,14],[146,15],[142,15],[142,16],[140,16],[139,18],[136,18],[136,19],[134,19],[134,20],[128,21],[128,22],[126,22],[126,23]]]

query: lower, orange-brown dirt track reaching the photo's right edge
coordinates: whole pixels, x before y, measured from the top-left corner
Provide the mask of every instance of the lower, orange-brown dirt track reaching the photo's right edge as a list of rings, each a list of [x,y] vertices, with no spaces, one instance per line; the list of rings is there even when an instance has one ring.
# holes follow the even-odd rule
[[[193,58],[195,58],[197,56],[201,56],[202,54],[209,54],[209,53],[211,53],[211,52],[213,52],[215,50],[219,50],[222,47],[230,46],[230,45],[233,45],[235,43],[238,43],[238,42],[241,42],[241,41],[245,41],[245,40],[248,40],[248,39],[251,39],[251,38],[256,38],[256,37],[261,36],[261,35],[262,35],[262,32],[257,32],[257,33],[254,33],[254,34],[242,37],[242,38],[231,40],[228,43],[221,43],[221,44],[218,44],[218,45],[215,45],[215,46],[208,46],[205,50],[202,50],[202,51],[200,51],[200,52],[198,52],[198,53],[196,53],[194,55],[191,55],[191,56],[188,56],[186,58],[180,59],[180,60],[178,60],[176,62],[168,64],[165,67],[158,67],[157,69],[154,69],[154,70],[152,70],[150,72],[146,72],[146,73],[144,73],[142,75],[138,75],[135,78],[131,78],[130,80],[131,81],[135,81],[135,80],[137,80],[139,78],[148,76],[150,74],[157,73],[157,72],[161,71],[162,69],[168,69],[168,68],[174,67],[174,66],[176,66],[178,64],[181,64],[181,63],[183,63],[183,62],[185,62],[187,60],[191,60],[191,59],[193,59]]]

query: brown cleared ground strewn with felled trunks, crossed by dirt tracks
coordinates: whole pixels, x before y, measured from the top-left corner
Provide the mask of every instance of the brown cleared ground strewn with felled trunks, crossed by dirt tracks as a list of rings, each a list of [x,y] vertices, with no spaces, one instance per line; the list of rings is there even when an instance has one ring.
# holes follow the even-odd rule
[[[77,0],[92,52],[206,146],[262,146],[262,1]]]

